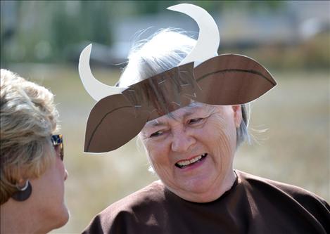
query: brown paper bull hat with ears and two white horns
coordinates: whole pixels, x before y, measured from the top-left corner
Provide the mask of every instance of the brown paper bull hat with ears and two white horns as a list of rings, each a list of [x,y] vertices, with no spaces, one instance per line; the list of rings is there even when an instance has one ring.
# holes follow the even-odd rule
[[[168,8],[191,16],[200,29],[196,46],[174,67],[132,86],[102,84],[91,74],[91,45],[80,55],[79,72],[87,92],[97,103],[87,120],[84,152],[108,152],[130,141],[146,122],[189,105],[240,105],[259,98],[276,82],[252,58],[217,55],[219,31],[203,8],[179,4]]]

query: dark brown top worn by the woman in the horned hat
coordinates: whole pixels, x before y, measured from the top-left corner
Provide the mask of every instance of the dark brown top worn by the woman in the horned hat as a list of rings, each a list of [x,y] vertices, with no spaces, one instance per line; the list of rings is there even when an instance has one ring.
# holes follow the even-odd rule
[[[236,170],[238,178],[213,202],[188,202],[156,181],[98,214],[92,233],[330,233],[321,197]]]

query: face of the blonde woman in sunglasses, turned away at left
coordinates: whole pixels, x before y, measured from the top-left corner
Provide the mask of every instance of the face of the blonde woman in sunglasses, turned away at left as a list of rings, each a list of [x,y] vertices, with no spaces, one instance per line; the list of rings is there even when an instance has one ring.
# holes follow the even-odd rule
[[[42,214],[46,230],[59,228],[68,222],[69,212],[64,201],[64,181],[68,178],[64,164],[56,147],[56,159],[42,176],[31,180],[33,209]]]

